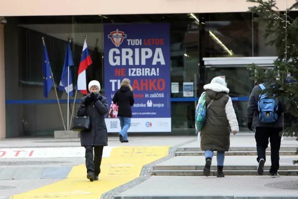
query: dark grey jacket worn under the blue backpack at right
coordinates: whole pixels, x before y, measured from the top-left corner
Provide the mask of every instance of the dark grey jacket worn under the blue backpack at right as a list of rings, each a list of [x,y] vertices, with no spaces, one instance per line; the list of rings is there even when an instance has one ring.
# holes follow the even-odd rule
[[[284,128],[284,105],[280,101],[280,116],[276,122],[273,123],[262,123],[259,121],[257,115],[258,99],[261,88],[257,85],[252,89],[248,103],[247,103],[247,122],[252,122],[253,127],[273,127],[273,128]]]

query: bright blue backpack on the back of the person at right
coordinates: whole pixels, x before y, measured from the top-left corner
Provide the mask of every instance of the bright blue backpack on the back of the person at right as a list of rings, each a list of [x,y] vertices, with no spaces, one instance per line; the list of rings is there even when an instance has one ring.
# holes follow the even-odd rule
[[[259,87],[262,91],[266,89],[263,84],[259,84]],[[259,121],[262,123],[276,122],[278,120],[278,107],[277,99],[268,98],[267,94],[260,94],[258,99]]]

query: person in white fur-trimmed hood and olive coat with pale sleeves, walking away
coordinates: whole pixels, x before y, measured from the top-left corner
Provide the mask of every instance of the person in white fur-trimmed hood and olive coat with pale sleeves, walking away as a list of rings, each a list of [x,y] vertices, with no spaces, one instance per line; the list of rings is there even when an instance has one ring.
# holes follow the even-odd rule
[[[214,151],[217,151],[217,177],[224,177],[224,152],[229,150],[230,129],[239,132],[229,89],[223,78],[216,77],[204,86],[196,109],[196,129],[201,132],[201,149],[205,151],[204,176],[210,176]]]

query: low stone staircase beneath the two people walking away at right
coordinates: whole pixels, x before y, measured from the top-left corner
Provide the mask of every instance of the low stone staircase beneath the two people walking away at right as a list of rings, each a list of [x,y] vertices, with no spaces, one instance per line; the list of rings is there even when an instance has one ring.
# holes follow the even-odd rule
[[[175,157],[154,166],[153,175],[156,176],[203,176],[205,166],[204,151],[200,149],[199,141],[179,147]],[[293,160],[298,160],[297,147],[283,146],[280,150],[280,169],[282,176],[298,176],[298,165]],[[269,175],[271,165],[270,147],[266,151],[264,175]],[[225,153],[225,176],[254,176],[257,174],[256,147],[230,147]],[[216,152],[214,153],[211,175],[217,175]]]

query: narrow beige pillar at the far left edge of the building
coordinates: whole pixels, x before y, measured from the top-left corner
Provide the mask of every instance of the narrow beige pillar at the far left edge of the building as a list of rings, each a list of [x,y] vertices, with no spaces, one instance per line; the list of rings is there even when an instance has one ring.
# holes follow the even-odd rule
[[[4,67],[4,26],[0,24],[0,139],[5,138],[5,67]]]

